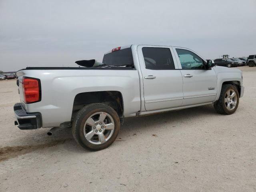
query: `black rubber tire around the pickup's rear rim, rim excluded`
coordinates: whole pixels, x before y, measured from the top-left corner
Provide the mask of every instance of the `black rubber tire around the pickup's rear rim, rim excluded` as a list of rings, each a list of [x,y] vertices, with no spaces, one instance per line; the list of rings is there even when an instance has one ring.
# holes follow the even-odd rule
[[[102,144],[92,144],[88,140],[86,140],[86,137],[84,135],[84,125],[86,124],[86,120],[88,120],[90,116],[92,116],[97,112],[103,112],[103,113],[109,114],[114,120],[114,132],[112,133],[110,138]],[[72,124],[72,134],[76,142],[78,142],[78,144],[80,144],[83,148],[86,148],[92,151],[102,150],[110,146],[116,140],[119,130],[120,130],[120,120],[119,120],[118,114],[113,108],[102,103],[93,103],[93,104],[84,106],[84,108],[82,108],[77,113],[76,117],[74,118],[74,122]],[[102,131],[102,134],[103,134],[103,131]]]

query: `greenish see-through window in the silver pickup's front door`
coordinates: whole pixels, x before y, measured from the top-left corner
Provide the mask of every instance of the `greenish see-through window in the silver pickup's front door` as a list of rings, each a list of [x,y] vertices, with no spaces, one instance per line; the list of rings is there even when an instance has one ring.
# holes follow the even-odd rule
[[[176,49],[182,69],[204,69],[204,61],[196,54],[185,49]]]

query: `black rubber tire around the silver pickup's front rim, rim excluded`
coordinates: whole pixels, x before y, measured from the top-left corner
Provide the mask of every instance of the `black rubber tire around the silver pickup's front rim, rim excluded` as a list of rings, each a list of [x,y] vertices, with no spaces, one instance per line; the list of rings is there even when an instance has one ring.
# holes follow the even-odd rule
[[[228,92],[228,90],[234,90],[234,92],[236,93],[236,106],[232,110],[228,110],[228,108],[226,107],[226,104],[225,104],[225,96],[226,96],[226,92]],[[231,85],[231,84],[222,85],[221,92],[220,92],[220,98],[219,98],[219,100],[214,102],[214,109],[216,110],[216,112],[218,112],[219,114],[231,115],[234,112],[236,112],[236,109],[238,108],[238,104],[239,104],[239,93],[238,93],[236,86]]]

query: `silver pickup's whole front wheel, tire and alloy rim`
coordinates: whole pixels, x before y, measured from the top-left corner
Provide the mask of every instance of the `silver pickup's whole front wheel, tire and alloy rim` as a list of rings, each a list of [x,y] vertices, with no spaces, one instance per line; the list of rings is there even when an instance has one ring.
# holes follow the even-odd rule
[[[236,86],[224,84],[221,88],[220,98],[214,102],[215,110],[220,114],[233,114],[238,108],[239,93]]]

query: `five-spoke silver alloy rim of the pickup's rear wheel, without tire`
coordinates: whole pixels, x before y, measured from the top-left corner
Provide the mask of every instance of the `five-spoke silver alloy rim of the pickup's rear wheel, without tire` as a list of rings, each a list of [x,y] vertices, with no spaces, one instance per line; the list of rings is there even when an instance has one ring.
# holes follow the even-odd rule
[[[114,120],[106,112],[92,114],[84,124],[84,136],[92,144],[103,144],[114,133]]]

